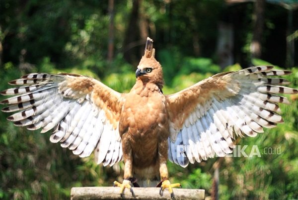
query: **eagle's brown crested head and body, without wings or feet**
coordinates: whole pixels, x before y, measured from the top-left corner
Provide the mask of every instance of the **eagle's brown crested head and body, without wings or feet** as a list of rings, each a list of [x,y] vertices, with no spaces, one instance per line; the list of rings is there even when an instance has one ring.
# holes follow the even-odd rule
[[[124,179],[167,179],[167,139],[169,137],[166,98],[162,94],[162,69],[154,59],[152,41],[147,42],[145,55],[136,72],[137,81],[126,100],[119,121],[124,162],[132,168],[124,172]],[[160,172],[159,172],[160,171]]]

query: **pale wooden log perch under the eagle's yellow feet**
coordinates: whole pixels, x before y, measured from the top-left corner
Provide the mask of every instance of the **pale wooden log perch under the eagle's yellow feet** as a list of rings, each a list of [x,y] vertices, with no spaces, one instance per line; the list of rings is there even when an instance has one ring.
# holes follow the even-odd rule
[[[159,195],[159,188],[133,188],[136,198],[129,190],[125,190],[125,200],[171,200],[167,189],[163,196]],[[173,189],[175,200],[203,200],[205,190]],[[114,187],[83,187],[72,188],[71,200],[123,200],[120,197],[120,188]]]

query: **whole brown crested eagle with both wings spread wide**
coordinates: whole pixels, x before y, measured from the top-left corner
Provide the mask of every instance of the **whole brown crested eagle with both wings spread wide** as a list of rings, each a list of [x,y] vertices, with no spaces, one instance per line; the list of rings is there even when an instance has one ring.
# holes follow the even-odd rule
[[[290,104],[279,94],[297,94],[285,87],[288,75],[273,66],[255,66],[209,77],[172,95],[164,95],[161,65],[153,40],[129,93],[118,93],[98,80],[75,74],[32,73],[10,81],[17,85],[1,95],[16,95],[1,104],[3,112],[16,111],[7,120],[29,130],[53,130],[50,141],[60,142],[75,155],[104,166],[124,161],[121,197],[142,180],[160,181],[174,198],[167,160],[186,167],[214,156],[224,157],[236,137],[254,137],[263,127],[283,123],[278,103]]]

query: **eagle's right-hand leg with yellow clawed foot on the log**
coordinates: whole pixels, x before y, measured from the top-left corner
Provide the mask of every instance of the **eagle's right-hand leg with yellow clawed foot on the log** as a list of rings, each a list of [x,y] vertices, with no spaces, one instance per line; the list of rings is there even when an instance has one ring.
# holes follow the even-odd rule
[[[167,160],[167,145],[160,145],[158,146],[158,154],[159,154],[159,173],[160,173],[160,180],[161,180],[161,185],[160,190],[159,190],[159,195],[162,196],[164,189],[168,189],[168,191],[171,194],[171,198],[175,199],[175,195],[173,192],[172,188],[179,187],[181,188],[181,184],[176,183],[176,184],[171,184],[170,181],[168,180],[168,170],[166,167],[166,160]]]

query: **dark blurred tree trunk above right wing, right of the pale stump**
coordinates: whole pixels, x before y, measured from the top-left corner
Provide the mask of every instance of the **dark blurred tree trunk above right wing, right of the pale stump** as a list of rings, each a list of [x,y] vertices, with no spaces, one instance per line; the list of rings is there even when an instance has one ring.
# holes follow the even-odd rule
[[[264,29],[265,0],[256,0],[254,8],[254,30],[250,52],[252,58],[260,58],[262,54],[262,36]]]

